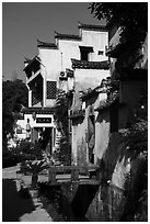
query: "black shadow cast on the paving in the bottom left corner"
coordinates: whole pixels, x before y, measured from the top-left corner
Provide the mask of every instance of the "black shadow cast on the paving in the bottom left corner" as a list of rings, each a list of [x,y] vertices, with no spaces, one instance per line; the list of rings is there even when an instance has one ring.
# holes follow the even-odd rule
[[[22,198],[15,180],[2,180],[2,222],[21,222],[20,217],[35,210],[32,199]]]

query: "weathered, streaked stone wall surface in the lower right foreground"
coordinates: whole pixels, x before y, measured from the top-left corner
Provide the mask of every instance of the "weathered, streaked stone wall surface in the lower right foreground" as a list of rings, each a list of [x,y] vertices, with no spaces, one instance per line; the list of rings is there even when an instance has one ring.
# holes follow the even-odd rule
[[[119,221],[124,209],[124,188],[130,172],[130,157],[118,133],[109,139],[103,155],[104,170],[101,170],[100,188],[89,206],[86,217],[91,222]]]

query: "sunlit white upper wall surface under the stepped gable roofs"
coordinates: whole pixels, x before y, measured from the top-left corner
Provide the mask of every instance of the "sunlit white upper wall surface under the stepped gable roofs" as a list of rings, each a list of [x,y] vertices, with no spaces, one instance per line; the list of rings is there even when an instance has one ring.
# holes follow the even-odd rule
[[[90,53],[90,61],[101,61],[107,60],[105,56],[105,46],[108,43],[108,33],[107,32],[97,32],[97,31],[86,31],[81,30],[81,41],[73,41],[73,40],[56,40],[58,43],[58,49],[53,48],[38,48],[39,58],[42,60],[42,76],[46,80],[57,81],[57,87],[59,87],[59,75],[60,71],[66,71],[66,68],[72,69],[71,58],[80,59],[80,48],[79,46],[91,46],[93,47],[93,53]],[[104,55],[99,55],[99,51],[104,51]],[[88,70],[88,69],[80,69],[78,70],[77,79],[79,72],[81,72],[81,79],[91,80],[94,78],[93,74],[100,72],[100,70]],[[101,72],[101,76],[105,77],[105,71]],[[101,76],[96,78],[95,82],[101,81]],[[100,78],[100,79],[99,79]],[[100,80],[100,81],[99,81]],[[82,80],[81,80],[82,81]],[[45,86],[45,85],[44,85]],[[94,85],[95,87],[95,85]],[[45,89],[46,91],[46,89]],[[46,100],[46,94],[44,97],[44,105],[49,107],[50,101]]]

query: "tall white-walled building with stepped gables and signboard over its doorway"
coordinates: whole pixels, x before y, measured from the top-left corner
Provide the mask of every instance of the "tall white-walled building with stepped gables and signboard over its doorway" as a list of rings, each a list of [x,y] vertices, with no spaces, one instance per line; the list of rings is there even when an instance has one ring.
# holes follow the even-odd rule
[[[57,89],[66,92],[73,90],[70,110],[78,110],[81,107],[79,93],[95,88],[109,76],[105,55],[108,33],[105,26],[79,23],[78,35],[56,32],[55,40],[56,43],[37,40],[38,54],[33,59],[25,58],[28,108],[22,110],[24,123],[30,124],[27,132],[31,141],[37,141],[41,131],[47,130],[53,143],[50,152],[55,146],[53,109]]]

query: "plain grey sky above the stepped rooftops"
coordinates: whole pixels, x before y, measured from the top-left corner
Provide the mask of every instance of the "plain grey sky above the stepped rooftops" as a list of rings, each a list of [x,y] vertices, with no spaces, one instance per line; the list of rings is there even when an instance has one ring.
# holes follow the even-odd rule
[[[37,54],[37,38],[55,43],[55,31],[78,34],[78,22],[101,24],[90,2],[2,2],[2,75],[25,82],[24,57]]]

